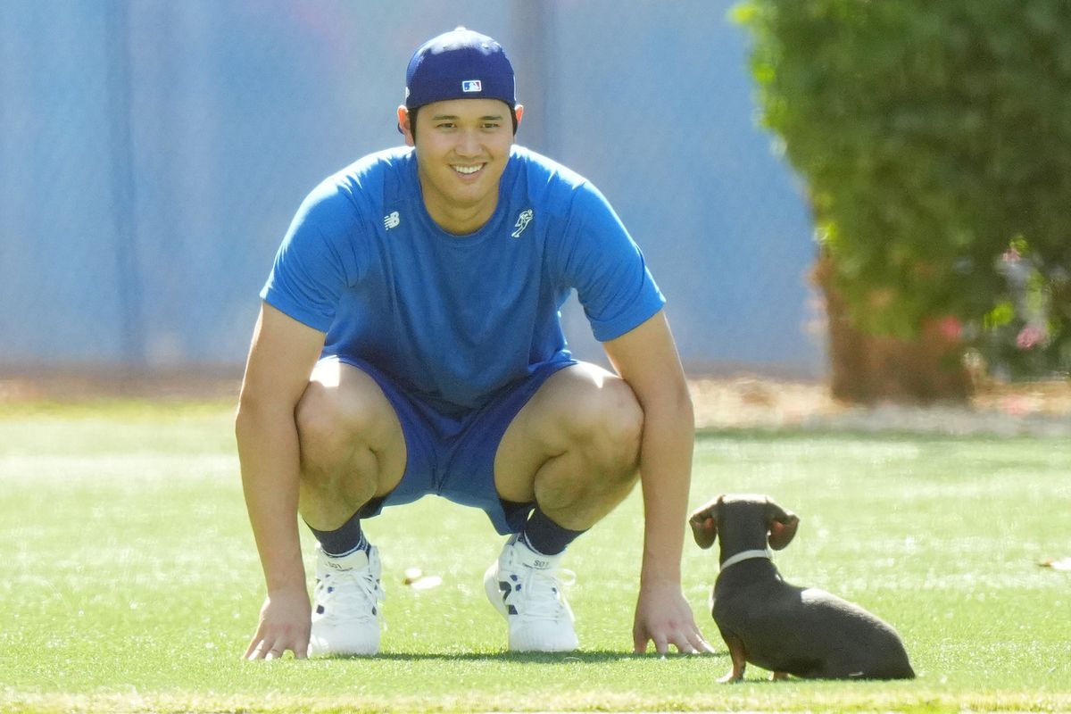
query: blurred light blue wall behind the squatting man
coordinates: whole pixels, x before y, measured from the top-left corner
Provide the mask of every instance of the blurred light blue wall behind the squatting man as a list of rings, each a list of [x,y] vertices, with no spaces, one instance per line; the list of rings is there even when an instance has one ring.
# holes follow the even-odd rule
[[[643,247],[690,373],[825,374],[810,215],[730,4],[0,3],[0,373],[240,367],[298,204],[401,142],[409,56],[464,25],[513,59],[518,142]]]

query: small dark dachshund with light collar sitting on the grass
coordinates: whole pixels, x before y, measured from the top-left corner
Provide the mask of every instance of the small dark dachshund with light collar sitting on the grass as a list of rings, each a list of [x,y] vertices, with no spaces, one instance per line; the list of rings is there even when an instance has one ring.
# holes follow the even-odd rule
[[[904,643],[887,623],[823,590],[782,579],[770,560],[796,536],[799,517],[765,496],[720,496],[689,519],[695,542],[709,548],[721,537],[721,573],[711,611],[743,678],[750,662],[773,679],[911,679]]]

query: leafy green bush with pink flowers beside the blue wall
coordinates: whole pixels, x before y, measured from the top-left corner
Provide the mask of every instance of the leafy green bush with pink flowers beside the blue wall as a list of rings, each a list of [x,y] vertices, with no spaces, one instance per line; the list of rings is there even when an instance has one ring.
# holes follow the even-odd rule
[[[855,323],[1071,369],[1071,2],[745,0],[765,124]]]

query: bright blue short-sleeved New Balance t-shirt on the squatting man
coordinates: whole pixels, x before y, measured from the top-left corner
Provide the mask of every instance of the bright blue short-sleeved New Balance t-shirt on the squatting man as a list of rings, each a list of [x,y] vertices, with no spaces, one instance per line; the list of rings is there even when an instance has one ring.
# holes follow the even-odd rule
[[[665,302],[583,177],[513,147],[494,215],[453,236],[424,208],[414,151],[397,148],[310,194],[260,297],[326,332],[325,356],[368,362],[457,414],[541,364],[571,359],[558,312],[571,289],[603,341]]]

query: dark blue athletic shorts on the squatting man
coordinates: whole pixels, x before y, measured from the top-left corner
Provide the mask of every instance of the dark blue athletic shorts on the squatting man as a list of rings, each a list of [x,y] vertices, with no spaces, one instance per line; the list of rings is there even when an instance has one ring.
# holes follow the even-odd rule
[[[359,517],[371,518],[384,506],[411,503],[434,493],[454,503],[482,508],[502,535],[521,531],[536,504],[513,503],[498,497],[495,454],[507,427],[543,382],[562,367],[576,364],[575,360],[544,364],[527,379],[504,388],[480,409],[452,417],[406,393],[367,362],[348,356],[337,359],[376,380],[394,407],[405,435],[407,460],[401,483],[387,496],[362,506]]]

